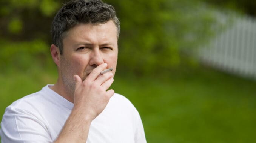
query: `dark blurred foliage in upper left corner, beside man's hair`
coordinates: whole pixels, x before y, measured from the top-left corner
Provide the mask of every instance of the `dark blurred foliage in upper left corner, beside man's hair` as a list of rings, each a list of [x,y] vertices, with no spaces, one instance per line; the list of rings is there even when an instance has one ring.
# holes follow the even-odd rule
[[[0,39],[42,39],[49,44],[51,22],[60,5],[60,0],[1,0]]]

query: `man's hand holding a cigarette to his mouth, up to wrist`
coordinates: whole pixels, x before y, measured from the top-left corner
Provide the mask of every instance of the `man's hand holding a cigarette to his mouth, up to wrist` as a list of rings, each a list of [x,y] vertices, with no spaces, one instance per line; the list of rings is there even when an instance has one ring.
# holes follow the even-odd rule
[[[106,63],[97,66],[84,81],[78,75],[74,75],[76,80],[74,108],[79,108],[84,116],[91,120],[104,110],[109,99],[114,95],[114,90],[108,90],[114,81],[113,74],[111,72],[100,74],[106,67]]]

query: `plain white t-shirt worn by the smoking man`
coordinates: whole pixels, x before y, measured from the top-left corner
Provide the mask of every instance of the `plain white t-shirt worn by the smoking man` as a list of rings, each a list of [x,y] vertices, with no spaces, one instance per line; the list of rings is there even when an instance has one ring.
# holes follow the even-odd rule
[[[51,85],[8,106],[1,122],[1,143],[52,143],[74,106]],[[122,95],[114,94],[91,123],[86,143],[146,143],[139,113]]]

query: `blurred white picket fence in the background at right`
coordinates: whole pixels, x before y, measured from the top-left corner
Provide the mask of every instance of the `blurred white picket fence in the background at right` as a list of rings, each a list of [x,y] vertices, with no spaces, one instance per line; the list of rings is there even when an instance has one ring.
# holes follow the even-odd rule
[[[216,36],[199,48],[200,60],[222,71],[256,80],[255,18],[233,15],[224,22]]]

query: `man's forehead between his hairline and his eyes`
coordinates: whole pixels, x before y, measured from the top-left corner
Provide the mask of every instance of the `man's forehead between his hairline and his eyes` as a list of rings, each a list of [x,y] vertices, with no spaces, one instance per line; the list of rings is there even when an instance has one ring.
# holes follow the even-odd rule
[[[117,28],[109,21],[107,23],[79,23],[65,33],[64,44],[75,45],[113,45],[117,46]]]

